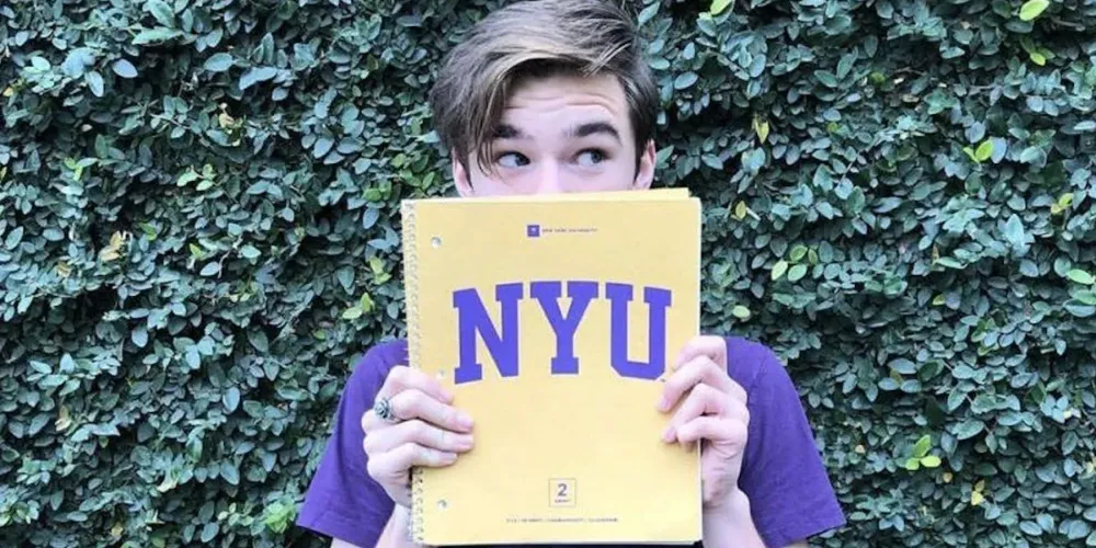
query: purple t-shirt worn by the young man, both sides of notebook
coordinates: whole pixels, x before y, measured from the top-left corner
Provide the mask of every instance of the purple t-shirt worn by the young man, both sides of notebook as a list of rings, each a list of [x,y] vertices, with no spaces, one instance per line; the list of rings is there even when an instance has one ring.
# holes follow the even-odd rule
[[[739,488],[750,498],[765,545],[778,548],[844,526],[799,393],[784,366],[760,343],[726,340],[728,375],[749,395],[749,438]],[[376,546],[393,503],[366,472],[361,419],[388,370],[406,363],[407,343],[391,341],[372,347],[354,367],[300,509],[299,526],[356,546]]]

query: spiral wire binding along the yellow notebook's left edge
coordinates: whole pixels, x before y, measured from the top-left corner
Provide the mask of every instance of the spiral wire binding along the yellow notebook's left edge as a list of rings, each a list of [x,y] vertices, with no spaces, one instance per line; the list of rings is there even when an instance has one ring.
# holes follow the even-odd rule
[[[408,326],[408,361],[411,367],[420,367],[421,346],[419,341],[419,242],[415,238],[414,204],[404,201],[400,205],[403,224],[403,285],[404,307]],[[423,543],[423,499],[422,477],[419,467],[411,468],[411,516],[408,537],[416,545]]]

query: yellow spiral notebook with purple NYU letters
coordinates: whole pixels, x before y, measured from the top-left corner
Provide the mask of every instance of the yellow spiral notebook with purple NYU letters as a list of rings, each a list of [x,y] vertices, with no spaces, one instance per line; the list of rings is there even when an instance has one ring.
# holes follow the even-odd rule
[[[655,406],[699,331],[700,204],[683,190],[402,204],[408,343],[475,447],[418,468],[425,545],[690,544],[699,453]]]

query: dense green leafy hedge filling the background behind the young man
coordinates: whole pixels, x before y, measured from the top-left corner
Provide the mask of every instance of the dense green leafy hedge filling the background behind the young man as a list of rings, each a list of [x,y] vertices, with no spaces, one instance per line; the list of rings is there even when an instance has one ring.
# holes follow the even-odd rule
[[[450,192],[425,93],[496,3],[0,7],[0,544],[322,546],[398,202]],[[1096,5],[1043,4],[636,5],[704,324],[788,361],[829,546],[1096,545]]]

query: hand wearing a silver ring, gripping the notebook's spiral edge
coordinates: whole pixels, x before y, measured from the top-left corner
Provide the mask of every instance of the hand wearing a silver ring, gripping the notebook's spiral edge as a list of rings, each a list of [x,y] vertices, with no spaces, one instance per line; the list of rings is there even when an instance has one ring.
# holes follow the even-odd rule
[[[407,366],[393,367],[377,401],[387,399],[393,416],[362,415],[362,443],[368,456],[369,477],[392,501],[411,505],[411,467],[443,467],[472,447],[472,421],[452,406],[453,396],[429,375]]]

